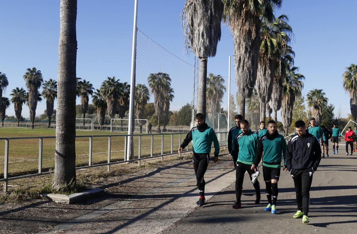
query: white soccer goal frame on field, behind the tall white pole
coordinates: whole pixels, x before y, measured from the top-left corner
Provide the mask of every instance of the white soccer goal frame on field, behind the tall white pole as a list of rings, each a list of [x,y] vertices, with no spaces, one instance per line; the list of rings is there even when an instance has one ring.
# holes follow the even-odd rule
[[[147,119],[134,120],[134,132],[147,133]],[[129,130],[129,119],[111,119],[111,132],[127,132]]]

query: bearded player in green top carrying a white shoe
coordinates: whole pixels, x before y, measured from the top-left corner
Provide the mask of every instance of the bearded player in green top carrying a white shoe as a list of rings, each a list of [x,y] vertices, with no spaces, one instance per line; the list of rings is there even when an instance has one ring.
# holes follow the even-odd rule
[[[259,171],[257,165],[259,161],[256,160],[256,151],[259,141],[259,136],[249,128],[247,120],[242,120],[242,133],[235,137],[233,157],[237,158],[236,162],[236,202],[231,206],[232,209],[238,209],[242,206],[242,185],[244,174],[247,171],[252,178],[252,183],[256,192],[255,204],[260,203],[260,184],[257,180]],[[260,159],[259,159],[260,160]]]

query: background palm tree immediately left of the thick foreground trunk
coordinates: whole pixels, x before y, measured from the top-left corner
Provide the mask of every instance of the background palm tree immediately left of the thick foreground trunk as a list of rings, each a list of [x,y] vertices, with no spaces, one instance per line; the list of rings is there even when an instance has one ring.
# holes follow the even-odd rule
[[[53,115],[53,107],[57,98],[57,81],[46,80],[42,85],[42,96],[46,99],[46,114],[48,116],[48,128],[51,126],[51,116]]]

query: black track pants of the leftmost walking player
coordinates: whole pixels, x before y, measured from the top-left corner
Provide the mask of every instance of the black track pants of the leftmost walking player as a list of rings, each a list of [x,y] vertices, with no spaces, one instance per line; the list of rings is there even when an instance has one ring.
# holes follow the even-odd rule
[[[207,170],[208,162],[210,161],[210,154],[196,154],[193,153],[193,168],[195,168],[195,174],[197,179],[197,187],[200,192],[205,191],[205,180],[203,176]]]

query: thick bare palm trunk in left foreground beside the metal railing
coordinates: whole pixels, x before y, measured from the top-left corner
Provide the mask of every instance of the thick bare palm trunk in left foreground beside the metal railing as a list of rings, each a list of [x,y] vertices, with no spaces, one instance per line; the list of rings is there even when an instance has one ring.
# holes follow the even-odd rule
[[[77,0],[61,0],[57,79],[56,152],[52,188],[68,191],[76,182]]]

